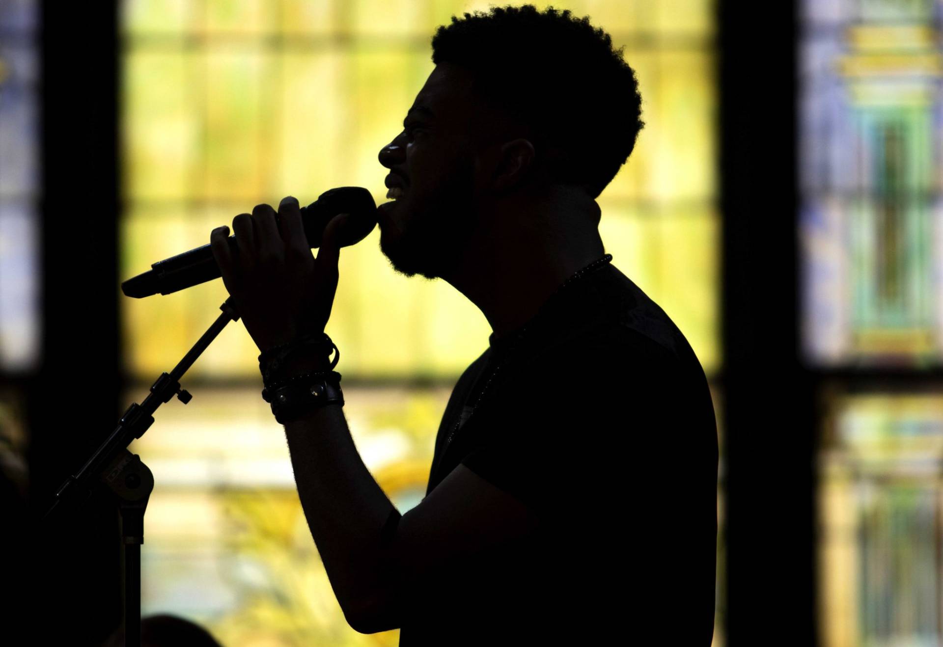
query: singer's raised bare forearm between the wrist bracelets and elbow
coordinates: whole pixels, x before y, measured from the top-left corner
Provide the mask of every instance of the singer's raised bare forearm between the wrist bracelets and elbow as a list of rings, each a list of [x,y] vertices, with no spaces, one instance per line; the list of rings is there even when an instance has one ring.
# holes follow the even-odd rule
[[[380,531],[395,508],[357,453],[340,405],[287,423],[285,435],[307,525],[353,625],[378,594]]]

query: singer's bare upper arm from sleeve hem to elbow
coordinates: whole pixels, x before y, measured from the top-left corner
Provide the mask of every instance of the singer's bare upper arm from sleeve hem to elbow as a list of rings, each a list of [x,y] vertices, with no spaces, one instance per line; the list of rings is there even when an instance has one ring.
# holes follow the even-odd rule
[[[520,538],[538,519],[521,501],[459,464],[399,521],[384,559],[382,589],[358,619],[372,634],[400,626],[405,589],[456,557]]]

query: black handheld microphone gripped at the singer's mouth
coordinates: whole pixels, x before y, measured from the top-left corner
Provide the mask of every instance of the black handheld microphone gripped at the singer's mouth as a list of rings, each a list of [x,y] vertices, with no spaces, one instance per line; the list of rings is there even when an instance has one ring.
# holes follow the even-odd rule
[[[324,191],[310,205],[301,207],[301,222],[311,247],[321,246],[324,228],[339,213],[350,214],[338,230],[340,247],[362,241],[376,226],[376,203],[370,191],[362,187],[339,187]],[[277,213],[275,219],[278,219]],[[237,254],[239,246],[236,237],[230,236],[227,241],[229,249]],[[157,292],[170,294],[223,275],[208,242],[189,252],[157,261],[151,268],[150,272],[138,274],[121,284],[124,296],[141,299]]]

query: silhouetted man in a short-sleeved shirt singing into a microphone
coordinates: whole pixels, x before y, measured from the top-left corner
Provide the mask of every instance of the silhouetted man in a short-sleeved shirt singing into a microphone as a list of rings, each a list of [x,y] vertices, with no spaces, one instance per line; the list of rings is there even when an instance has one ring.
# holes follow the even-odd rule
[[[426,496],[405,515],[339,400],[285,418],[308,527],[348,622],[400,627],[401,645],[706,647],[710,391],[597,229],[595,200],[644,125],[634,71],[569,11],[465,15],[439,27],[436,68],[380,152],[404,189],[378,209],[380,248],[397,272],[440,277],[480,307],[488,349],[455,385]],[[224,227],[211,235],[263,353],[323,326],[337,289],[341,219],[315,260],[297,200],[278,215],[259,205],[233,220],[238,256]],[[298,371],[324,370],[302,359]]]

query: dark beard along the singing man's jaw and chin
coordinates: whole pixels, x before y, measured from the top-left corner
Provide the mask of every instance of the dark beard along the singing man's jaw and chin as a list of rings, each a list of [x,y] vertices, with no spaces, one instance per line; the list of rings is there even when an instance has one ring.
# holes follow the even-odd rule
[[[395,225],[380,232],[380,251],[393,271],[407,278],[454,275],[478,226],[472,158],[459,156],[441,176],[443,181],[425,195],[406,191],[388,211]]]

